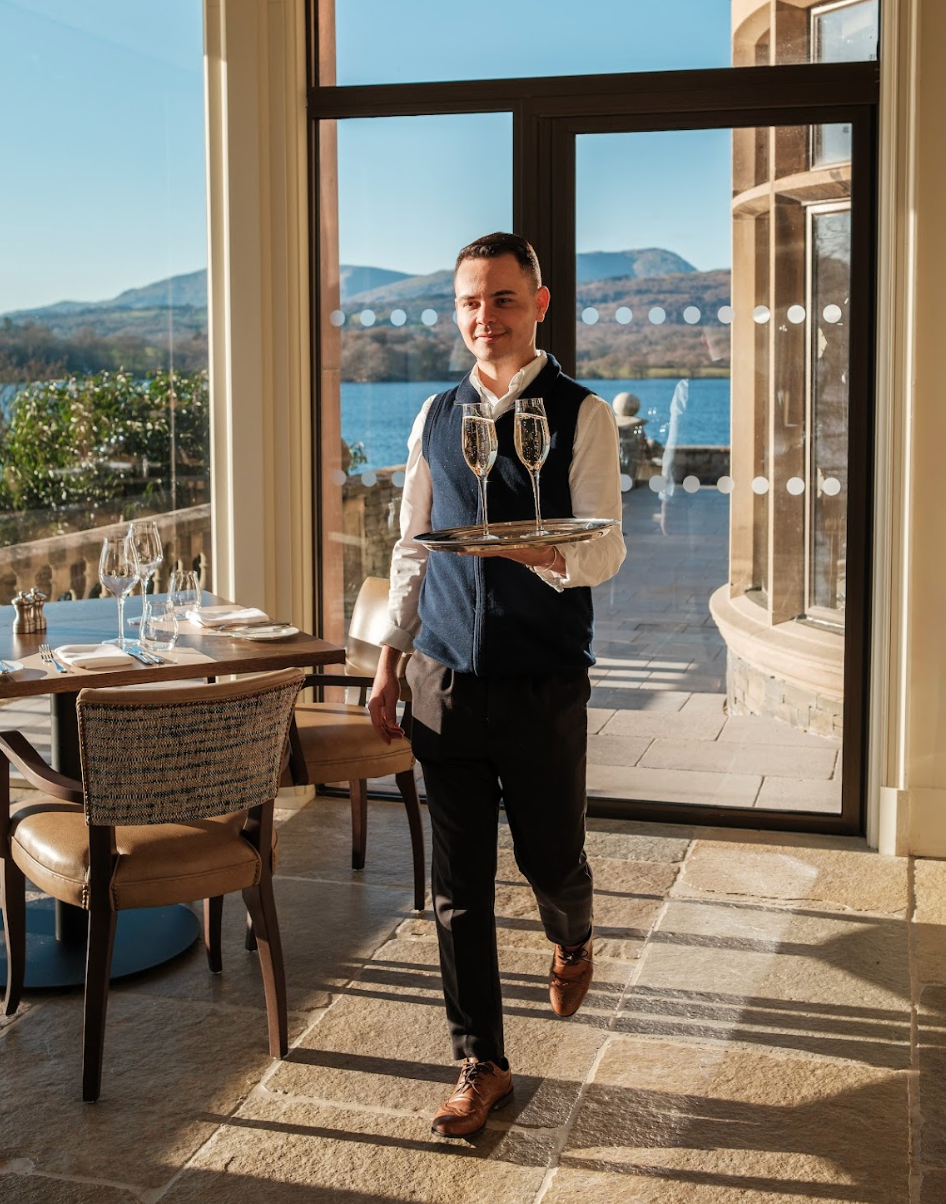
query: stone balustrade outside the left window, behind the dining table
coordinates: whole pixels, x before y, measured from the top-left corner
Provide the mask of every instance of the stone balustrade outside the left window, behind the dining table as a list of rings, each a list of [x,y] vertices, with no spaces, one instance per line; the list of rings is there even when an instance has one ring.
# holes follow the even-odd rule
[[[167,574],[179,563],[182,567],[196,568],[201,584],[209,589],[209,504],[149,517],[158,523],[165,549],[164,563],[155,574],[154,588],[159,591],[166,589]],[[128,523],[119,521],[0,548],[0,604],[7,604],[18,590],[32,586],[53,601],[97,597],[102,539],[107,535],[122,535],[126,530]]]

